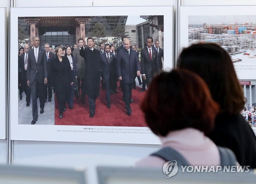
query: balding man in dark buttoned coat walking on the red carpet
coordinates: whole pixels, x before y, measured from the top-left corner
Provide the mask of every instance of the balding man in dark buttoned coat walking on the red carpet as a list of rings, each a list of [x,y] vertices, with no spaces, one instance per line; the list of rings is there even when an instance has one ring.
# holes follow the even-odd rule
[[[130,49],[130,39],[125,39],[124,48],[117,54],[117,76],[122,80],[123,100],[125,101],[125,109],[127,115],[131,115],[131,91],[133,82],[140,75],[140,63],[136,51]],[[137,72],[136,72],[137,71]]]

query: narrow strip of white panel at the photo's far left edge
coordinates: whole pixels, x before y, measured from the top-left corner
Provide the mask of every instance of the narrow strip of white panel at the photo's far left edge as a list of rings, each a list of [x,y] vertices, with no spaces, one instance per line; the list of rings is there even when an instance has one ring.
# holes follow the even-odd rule
[[[6,44],[6,8],[0,8],[0,38],[3,45]],[[3,79],[2,90],[0,91],[0,95],[2,96],[2,100],[0,101],[1,111],[0,117],[2,121],[0,122],[0,139],[6,139],[6,104],[7,104],[7,75],[6,75],[6,63],[7,63],[7,47],[3,47],[2,52],[2,67],[0,68],[0,77]]]

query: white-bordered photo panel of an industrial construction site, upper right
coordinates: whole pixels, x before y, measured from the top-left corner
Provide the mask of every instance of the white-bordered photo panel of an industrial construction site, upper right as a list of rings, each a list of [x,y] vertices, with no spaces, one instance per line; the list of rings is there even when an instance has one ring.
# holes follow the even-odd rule
[[[215,42],[229,50],[239,80],[256,79],[256,32],[251,29],[247,33],[250,26],[256,27],[255,8],[256,6],[181,6],[178,53],[192,43]],[[207,26],[227,26],[228,33],[214,34],[211,29],[212,35],[201,36],[200,33],[201,39],[192,36],[195,32],[204,32],[204,23]],[[243,32],[244,29],[247,29],[246,33]],[[223,44],[225,41],[228,44]],[[242,44],[251,46],[243,49]]]

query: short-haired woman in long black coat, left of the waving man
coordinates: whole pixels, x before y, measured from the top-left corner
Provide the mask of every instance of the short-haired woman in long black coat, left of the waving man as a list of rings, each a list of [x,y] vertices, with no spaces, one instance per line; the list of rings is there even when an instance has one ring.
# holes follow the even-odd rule
[[[56,47],[56,58],[52,62],[53,83],[55,94],[59,105],[59,118],[62,118],[62,113],[66,110],[65,103],[69,97],[69,86],[73,84],[73,75],[66,56],[62,56],[62,47]]]

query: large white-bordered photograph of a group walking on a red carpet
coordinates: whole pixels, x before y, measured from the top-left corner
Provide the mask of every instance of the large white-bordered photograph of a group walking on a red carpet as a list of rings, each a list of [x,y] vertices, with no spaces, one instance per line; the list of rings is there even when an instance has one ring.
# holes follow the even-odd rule
[[[161,11],[155,12],[155,8]],[[148,12],[152,12],[152,15],[148,15]],[[164,29],[168,34],[164,34]],[[89,99],[88,95],[84,98],[82,89],[79,89],[84,83],[83,78],[79,77],[78,57],[82,47],[90,48],[90,40],[87,42],[87,38],[92,37],[93,49],[102,51],[102,54],[107,53],[106,50],[101,50],[105,44],[109,44],[109,47],[113,45],[114,49],[111,47],[110,51],[114,51],[114,55],[111,53],[110,57],[113,56],[116,59],[117,51],[124,43],[122,36],[125,35],[130,39],[130,49],[136,51],[140,59],[140,51],[147,46],[146,40],[150,36],[151,47],[158,48],[157,45],[159,45],[159,50],[168,50],[165,60],[163,60],[163,55],[160,59],[161,69],[168,71],[173,66],[172,6],[11,8],[10,30],[11,140],[160,144],[157,136],[147,127],[140,110],[140,103],[145,95],[145,91],[141,90],[143,89],[143,84],[140,83],[142,75],[134,80],[130,101],[132,115],[129,115],[123,101],[122,86],[118,80],[114,82],[116,88],[110,90],[111,106],[109,106],[106,98],[107,87],[105,85],[107,84],[103,77],[104,74],[101,74],[102,83],[98,86],[100,87],[99,95],[94,101],[96,109],[92,114],[90,112],[90,105],[93,103],[90,101],[91,98]],[[164,40],[168,43],[165,47]],[[79,45],[79,42],[83,45]],[[24,54],[17,56],[17,51],[21,47],[24,48]],[[35,50],[36,48],[38,51]],[[78,69],[76,82],[78,90],[75,89],[75,95],[72,98],[73,106],[70,105],[68,99],[66,103],[64,102],[65,111],[60,117],[59,109],[63,109],[61,108],[63,104],[60,103],[61,95],[58,94],[63,94],[64,90],[59,90],[56,86],[62,84],[65,76],[56,80],[54,72],[57,72],[57,69],[52,69],[48,71],[48,74],[55,76],[54,84],[50,85],[50,77],[47,78],[47,84],[44,84],[44,77],[40,75],[42,68],[38,66],[44,67],[44,63],[50,66],[49,60],[61,58],[58,55],[60,52],[65,54],[67,51],[69,54],[69,49],[72,50]],[[73,60],[70,60],[71,68],[73,68],[72,62]],[[33,65],[37,69],[32,69]],[[55,66],[52,64],[51,67]],[[21,72],[22,69],[23,72]],[[34,78],[39,81],[39,77],[42,77],[43,82],[38,82],[36,85],[29,82],[30,87],[28,87],[27,71],[30,71],[30,81]],[[93,68],[85,69],[85,71],[93,72]],[[33,79],[31,79],[31,72],[35,72]],[[81,76],[87,76],[87,74]],[[73,77],[75,79],[75,74]],[[23,86],[26,90],[18,97],[17,85]],[[37,89],[36,92],[35,89]],[[32,93],[36,97],[34,99],[37,99],[34,100],[34,107]],[[37,113],[35,113],[35,107],[37,107]]]

